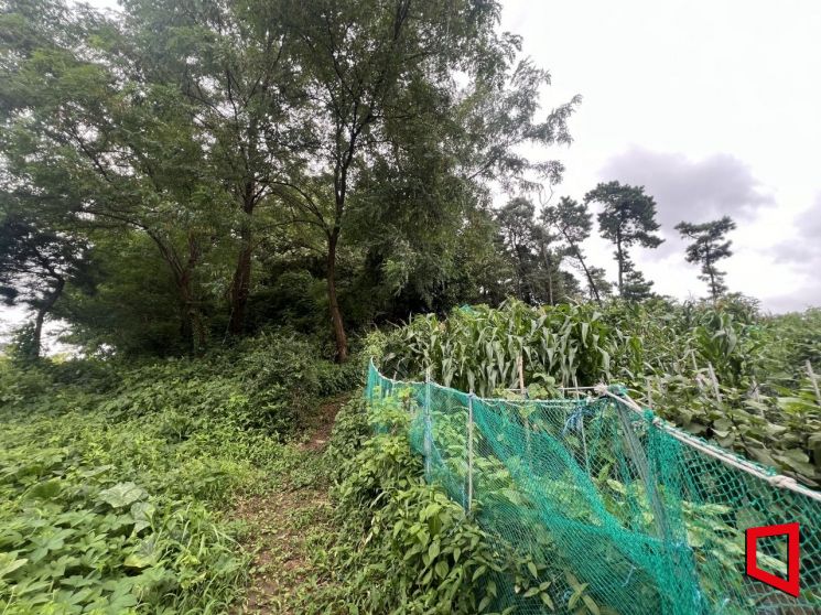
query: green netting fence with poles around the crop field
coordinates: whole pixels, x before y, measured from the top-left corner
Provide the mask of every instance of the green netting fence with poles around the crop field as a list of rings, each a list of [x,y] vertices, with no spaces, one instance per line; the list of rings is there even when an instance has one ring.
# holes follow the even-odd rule
[[[821,613],[817,492],[641,412],[617,387],[577,399],[483,399],[406,382],[371,364],[367,398],[412,413],[425,477],[505,549],[543,564],[557,612],[566,571],[605,614]],[[800,525],[800,595],[745,574],[745,530]],[[758,568],[787,576],[784,538],[760,539]],[[558,571],[565,571],[564,574]],[[549,613],[512,579],[496,611]]]

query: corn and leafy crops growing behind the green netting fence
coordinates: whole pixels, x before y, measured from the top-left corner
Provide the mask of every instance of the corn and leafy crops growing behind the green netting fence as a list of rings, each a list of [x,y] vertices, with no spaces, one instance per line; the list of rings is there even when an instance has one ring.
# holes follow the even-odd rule
[[[691,433],[821,482],[821,313],[760,316],[741,299],[717,306],[614,302],[529,308],[508,302],[417,316],[385,345],[386,374],[431,377],[478,395],[531,395],[620,381]]]

